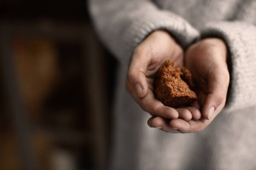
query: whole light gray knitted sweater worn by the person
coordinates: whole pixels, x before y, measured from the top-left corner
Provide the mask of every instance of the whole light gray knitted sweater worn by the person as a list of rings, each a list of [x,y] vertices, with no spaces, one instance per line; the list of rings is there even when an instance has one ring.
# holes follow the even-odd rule
[[[119,59],[110,170],[256,169],[256,0],[91,0],[101,40]],[[184,48],[204,37],[230,52],[224,110],[203,131],[173,134],[148,127],[148,113],[125,91],[134,48],[157,29]]]

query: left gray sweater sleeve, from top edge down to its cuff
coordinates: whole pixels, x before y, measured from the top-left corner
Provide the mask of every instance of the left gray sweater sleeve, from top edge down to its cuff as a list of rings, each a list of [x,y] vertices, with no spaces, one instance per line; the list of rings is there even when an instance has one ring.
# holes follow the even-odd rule
[[[90,0],[88,6],[100,39],[125,65],[134,48],[154,30],[169,31],[183,48],[199,36],[189,23],[151,0]]]

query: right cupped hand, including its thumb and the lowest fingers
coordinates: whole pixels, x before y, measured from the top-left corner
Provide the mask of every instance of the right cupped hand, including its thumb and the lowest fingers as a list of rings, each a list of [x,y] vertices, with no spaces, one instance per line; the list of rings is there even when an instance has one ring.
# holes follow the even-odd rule
[[[191,71],[192,78],[195,80],[195,92],[202,107],[203,117],[198,121],[188,122],[172,119],[169,121],[170,127],[181,133],[198,132],[204,130],[220,113],[225,105],[230,79],[226,59],[226,45],[218,38],[201,40],[187,49],[185,66]],[[151,125],[154,119],[166,125],[166,120],[161,117],[150,118],[148,124]]]

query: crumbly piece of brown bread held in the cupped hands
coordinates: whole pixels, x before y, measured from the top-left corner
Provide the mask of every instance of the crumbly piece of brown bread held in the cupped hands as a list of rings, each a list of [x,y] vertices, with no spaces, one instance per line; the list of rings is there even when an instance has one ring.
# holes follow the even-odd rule
[[[154,83],[155,98],[169,107],[179,107],[189,104],[197,99],[194,91],[191,74],[186,68],[178,68],[173,62],[165,61],[157,72]]]

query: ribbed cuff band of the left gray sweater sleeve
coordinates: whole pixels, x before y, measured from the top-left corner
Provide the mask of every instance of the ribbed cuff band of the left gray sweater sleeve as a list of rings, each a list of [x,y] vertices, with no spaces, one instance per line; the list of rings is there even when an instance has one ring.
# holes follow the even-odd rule
[[[188,47],[199,33],[189,23],[169,11],[158,11],[145,15],[140,21],[135,21],[125,37],[133,37],[131,47],[136,47],[151,32],[163,29],[168,31],[182,48]]]

